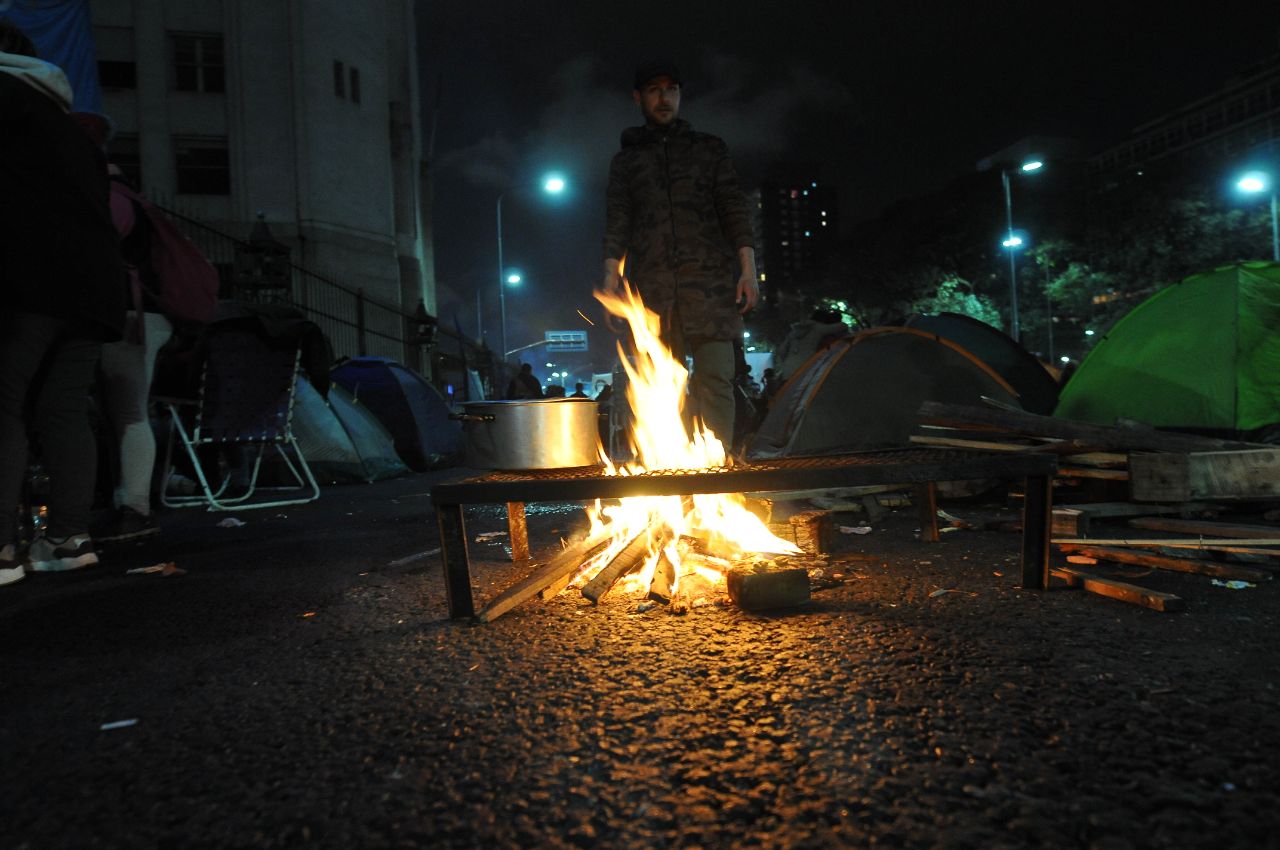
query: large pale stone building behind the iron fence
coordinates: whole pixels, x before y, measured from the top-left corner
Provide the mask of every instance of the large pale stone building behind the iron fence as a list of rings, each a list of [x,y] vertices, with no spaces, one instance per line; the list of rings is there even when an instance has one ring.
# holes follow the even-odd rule
[[[93,0],[109,154],[161,204],[239,239],[261,215],[294,264],[434,312],[413,3],[353,12],[339,0]],[[233,261],[211,259],[224,271]],[[320,297],[294,282],[296,301]]]

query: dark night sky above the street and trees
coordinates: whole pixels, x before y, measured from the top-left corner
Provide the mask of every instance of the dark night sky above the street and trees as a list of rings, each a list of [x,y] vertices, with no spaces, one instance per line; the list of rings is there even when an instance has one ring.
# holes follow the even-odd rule
[[[598,315],[604,182],[640,123],[631,73],[645,59],[681,67],[681,116],[726,140],[745,183],[776,161],[818,164],[847,230],[1024,136],[1117,142],[1280,52],[1280,4],[1165,12],[1181,5],[421,3],[440,317],[474,334],[480,287],[498,347],[499,193],[506,265],[526,278],[508,289],[509,347],[586,328],[576,309]],[[548,169],[572,191],[543,196]],[[598,355],[605,342],[595,329]]]

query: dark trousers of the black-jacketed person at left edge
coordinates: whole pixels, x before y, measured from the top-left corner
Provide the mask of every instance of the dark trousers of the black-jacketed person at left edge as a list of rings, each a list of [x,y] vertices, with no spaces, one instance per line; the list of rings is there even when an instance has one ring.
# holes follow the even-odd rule
[[[88,531],[97,475],[90,392],[102,343],[33,312],[0,321],[0,547],[17,536],[28,417],[49,470],[49,536]]]

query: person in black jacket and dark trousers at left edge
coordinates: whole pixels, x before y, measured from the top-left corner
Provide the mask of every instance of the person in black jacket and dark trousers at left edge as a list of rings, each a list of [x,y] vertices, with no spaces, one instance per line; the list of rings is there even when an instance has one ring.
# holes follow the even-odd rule
[[[88,397],[102,343],[122,335],[127,287],[106,160],[70,101],[65,74],[0,20],[0,584],[97,563]],[[47,529],[23,557],[14,508],[28,426],[51,494]]]

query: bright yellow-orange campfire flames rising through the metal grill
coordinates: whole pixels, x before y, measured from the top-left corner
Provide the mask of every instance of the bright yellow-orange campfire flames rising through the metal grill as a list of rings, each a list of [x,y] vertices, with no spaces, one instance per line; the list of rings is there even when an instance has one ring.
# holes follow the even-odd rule
[[[595,298],[631,330],[631,349],[620,341],[618,353],[628,379],[627,401],[637,413],[632,417],[630,434],[635,460],[616,465],[604,447],[599,447],[605,474],[694,471],[732,465],[724,442],[700,420],[694,420],[691,434],[685,426],[689,370],[662,343],[658,315],[644,306],[626,278],[621,293],[596,292]],[[593,579],[640,535],[648,538],[644,565],[618,584],[625,591],[649,588],[662,556],[675,568],[675,593],[680,579],[694,573],[722,585],[732,558],[746,553],[800,552],[792,543],[771,534],[765,524],[746,509],[741,494],[632,497],[609,504],[596,501],[588,513],[590,535],[607,534],[611,541],[584,565],[573,584]],[[710,556],[687,557],[689,540],[696,540],[699,549]]]

